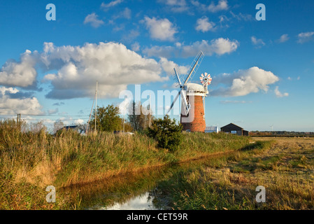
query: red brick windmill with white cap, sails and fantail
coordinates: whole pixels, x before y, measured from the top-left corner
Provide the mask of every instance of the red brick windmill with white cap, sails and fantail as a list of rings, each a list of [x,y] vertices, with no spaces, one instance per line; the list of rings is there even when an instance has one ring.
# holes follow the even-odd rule
[[[190,66],[190,72],[186,77],[184,77],[184,83],[181,83],[177,72],[178,69],[173,69],[173,75],[178,81],[180,92],[178,92],[175,99],[173,99],[169,111],[171,111],[176,100],[181,95],[182,104],[180,123],[183,125],[183,130],[190,132],[205,132],[206,128],[204,99],[208,94],[207,87],[211,82],[210,75],[207,73],[205,73],[205,76],[204,74],[201,74],[201,85],[197,83],[188,83],[188,80],[192,80],[193,76],[197,72],[203,58],[204,53],[200,51]],[[169,113],[169,111],[167,113]]]

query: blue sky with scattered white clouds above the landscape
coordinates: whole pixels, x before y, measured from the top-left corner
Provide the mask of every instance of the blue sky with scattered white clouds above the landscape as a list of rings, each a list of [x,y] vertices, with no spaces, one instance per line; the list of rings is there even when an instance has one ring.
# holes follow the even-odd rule
[[[46,20],[48,3],[56,20]],[[264,21],[255,19],[257,3]],[[86,122],[96,80],[99,106],[121,104],[119,93],[134,85],[157,96],[176,90],[173,66],[185,71],[203,50],[193,81],[213,78],[206,125],[314,131],[313,8],[287,0],[1,1],[0,117]]]

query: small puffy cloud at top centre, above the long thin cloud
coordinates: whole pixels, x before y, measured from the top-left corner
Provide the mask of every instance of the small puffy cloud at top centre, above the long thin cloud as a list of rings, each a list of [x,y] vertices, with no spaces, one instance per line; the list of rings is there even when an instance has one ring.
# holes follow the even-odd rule
[[[178,31],[168,19],[156,19],[145,16],[146,28],[150,31],[150,37],[159,41],[174,41],[174,34]]]

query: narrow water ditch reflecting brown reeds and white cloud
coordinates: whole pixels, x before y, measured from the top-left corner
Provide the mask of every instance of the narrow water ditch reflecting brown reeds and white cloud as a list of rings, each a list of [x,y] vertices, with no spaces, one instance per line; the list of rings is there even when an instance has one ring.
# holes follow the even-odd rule
[[[80,209],[171,209],[169,200],[158,190],[158,183],[173,179],[179,172],[191,171],[224,159],[224,155],[204,158],[162,168],[147,169],[85,184],[62,191],[80,202]],[[168,188],[166,186],[166,188]],[[170,189],[169,190],[174,190]]]

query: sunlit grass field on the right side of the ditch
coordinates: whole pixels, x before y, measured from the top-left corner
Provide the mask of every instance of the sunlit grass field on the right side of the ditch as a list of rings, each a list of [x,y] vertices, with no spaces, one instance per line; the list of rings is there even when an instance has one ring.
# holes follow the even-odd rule
[[[271,145],[238,152],[201,169],[180,173],[171,183],[164,181],[167,197],[171,198],[169,207],[314,209],[314,139],[254,138],[253,141]],[[257,186],[266,188],[265,203],[255,200]]]

